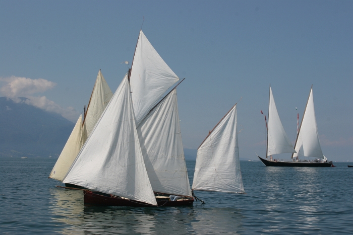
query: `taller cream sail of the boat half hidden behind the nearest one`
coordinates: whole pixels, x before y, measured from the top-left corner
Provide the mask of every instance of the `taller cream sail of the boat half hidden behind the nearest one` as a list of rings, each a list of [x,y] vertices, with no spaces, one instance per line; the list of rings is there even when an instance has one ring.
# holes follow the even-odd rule
[[[96,83],[94,84],[92,95],[87,106],[86,117],[84,121],[87,136],[90,135],[93,127],[96,125],[98,119],[102,115],[112,96],[113,93],[111,92],[108,84],[106,83],[102,73],[99,70]]]

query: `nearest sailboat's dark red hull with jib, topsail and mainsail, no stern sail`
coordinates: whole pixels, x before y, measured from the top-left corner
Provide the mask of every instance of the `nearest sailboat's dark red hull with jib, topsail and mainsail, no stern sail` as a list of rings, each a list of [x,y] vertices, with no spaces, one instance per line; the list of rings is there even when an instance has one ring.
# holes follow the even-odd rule
[[[193,204],[176,87],[162,98],[179,80],[141,30],[131,69],[63,180],[89,189],[85,206]]]

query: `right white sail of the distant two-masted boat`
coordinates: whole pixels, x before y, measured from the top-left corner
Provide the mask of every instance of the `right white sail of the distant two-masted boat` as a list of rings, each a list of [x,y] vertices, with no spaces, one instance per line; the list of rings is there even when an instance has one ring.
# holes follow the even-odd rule
[[[303,121],[299,131],[296,151],[293,157],[299,156],[312,156],[314,158],[324,159],[322,154],[318,128],[316,124],[313,89],[310,90],[308,104],[304,112]]]

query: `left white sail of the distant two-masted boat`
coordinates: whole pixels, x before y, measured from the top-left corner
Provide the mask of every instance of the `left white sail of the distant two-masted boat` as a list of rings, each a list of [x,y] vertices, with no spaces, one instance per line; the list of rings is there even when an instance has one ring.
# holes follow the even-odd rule
[[[279,118],[270,87],[270,104],[268,111],[267,155],[296,152]]]

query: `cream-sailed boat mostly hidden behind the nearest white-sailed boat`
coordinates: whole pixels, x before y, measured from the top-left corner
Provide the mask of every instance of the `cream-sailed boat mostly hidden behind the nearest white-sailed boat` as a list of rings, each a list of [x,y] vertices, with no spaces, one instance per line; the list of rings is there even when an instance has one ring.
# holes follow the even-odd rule
[[[87,137],[92,132],[94,125],[103,113],[105,107],[108,105],[111,97],[112,92],[99,69],[87,110],[85,109],[84,111],[84,117],[82,118],[82,115],[79,116],[68,141],[51,170],[49,178],[63,181]],[[75,188],[76,186],[68,184],[66,187]]]

